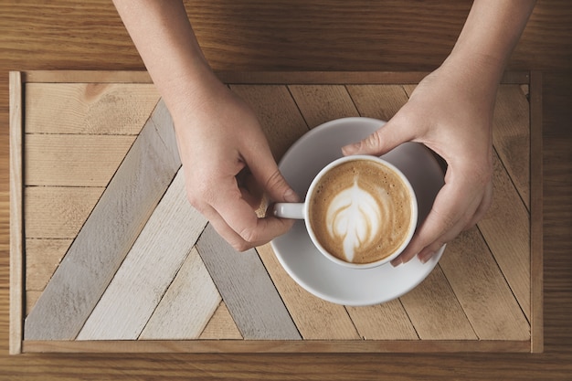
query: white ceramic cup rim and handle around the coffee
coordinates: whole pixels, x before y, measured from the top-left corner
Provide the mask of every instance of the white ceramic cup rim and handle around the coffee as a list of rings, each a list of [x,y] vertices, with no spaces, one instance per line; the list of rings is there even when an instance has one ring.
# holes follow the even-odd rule
[[[311,205],[310,201],[312,200],[312,197],[314,196],[314,191],[315,191],[316,185],[318,185],[318,183],[320,182],[320,179],[322,179],[323,175],[327,174],[332,168],[334,168],[335,166],[337,166],[339,164],[343,164],[343,163],[347,163],[347,162],[351,162],[351,161],[357,161],[357,160],[368,160],[368,161],[376,162],[378,164],[385,165],[389,170],[391,170],[393,173],[395,173],[403,181],[404,185],[406,185],[407,190],[408,190],[409,200],[410,200],[411,216],[409,218],[409,226],[408,226],[407,236],[404,239],[403,243],[395,251],[393,251],[392,253],[387,255],[385,258],[376,260],[374,262],[368,262],[368,263],[353,263],[353,262],[345,261],[343,259],[338,259],[333,254],[328,252],[328,250],[324,249],[323,245],[320,244],[318,238],[316,238],[316,235],[314,234],[314,230],[312,228],[312,219],[310,218],[310,213],[309,213],[310,205]],[[399,169],[397,169],[397,167],[395,165],[388,163],[386,160],[383,160],[383,159],[376,157],[376,156],[352,155],[352,156],[344,156],[342,158],[334,160],[334,162],[327,164],[325,167],[323,167],[323,169],[318,173],[318,175],[316,175],[313,178],[312,184],[308,188],[308,192],[306,194],[305,201],[303,203],[277,203],[274,205],[273,213],[274,213],[274,216],[276,216],[276,217],[303,219],[305,222],[306,230],[308,231],[308,235],[312,239],[312,243],[314,244],[314,246],[317,249],[320,250],[320,252],[327,259],[333,260],[337,264],[340,264],[340,265],[345,266],[345,267],[353,268],[353,269],[370,269],[370,268],[373,268],[376,266],[381,266],[381,265],[386,264],[387,262],[391,261],[392,259],[395,259],[399,254],[401,254],[401,252],[403,252],[404,249],[407,248],[409,241],[413,237],[413,233],[415,232],[415,228],[417,225],[418,204],[417,204],[417,198],[415,196],[415,192],[413,190],[413,187],[410,185],[408,178],[405,175],[403,175],[403,173],[401,171],[399,171]]]

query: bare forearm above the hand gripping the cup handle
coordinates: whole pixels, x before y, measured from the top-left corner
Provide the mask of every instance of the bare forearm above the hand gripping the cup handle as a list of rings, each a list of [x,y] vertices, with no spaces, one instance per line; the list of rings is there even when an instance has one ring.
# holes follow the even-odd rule
[[[219,85],[181,1],[113,0],[154,84],[175,115]],[[209,91],[204,91],[204,90]]]

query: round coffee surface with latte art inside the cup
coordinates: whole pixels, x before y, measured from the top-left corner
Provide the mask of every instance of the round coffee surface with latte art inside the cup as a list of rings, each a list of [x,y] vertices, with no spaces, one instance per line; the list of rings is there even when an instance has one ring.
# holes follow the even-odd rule
[[[336,165],[318,181],[309,206],[318,242],[350,263],[371,263],[408,237],[411,196],[391,168],[371,160]]]

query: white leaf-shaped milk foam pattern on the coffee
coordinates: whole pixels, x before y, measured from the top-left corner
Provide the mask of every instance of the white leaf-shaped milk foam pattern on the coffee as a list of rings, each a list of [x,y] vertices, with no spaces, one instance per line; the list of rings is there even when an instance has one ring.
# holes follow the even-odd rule
[[[379,187],[372,195],[358,184],[354,184],[336,195],[327,206],[326,225],[330,238],[343,242],[345,259],[354,260],[355,250],[373,244],[391,224],[390,203],[387,192]]]

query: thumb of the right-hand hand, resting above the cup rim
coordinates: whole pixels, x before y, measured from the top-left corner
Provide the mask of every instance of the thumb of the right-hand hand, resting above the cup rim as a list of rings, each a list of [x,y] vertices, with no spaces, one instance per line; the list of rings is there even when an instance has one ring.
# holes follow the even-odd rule
[[[382,155],[388,153],[401,143],[408,142],[414,138],[405,124],[395,120],[395,117],[381,126],[376,132],[367,136],[364,140],[345,145],[342,147],[344,155],[351,154],[375,154]]]

